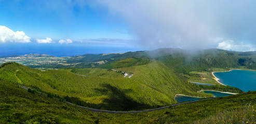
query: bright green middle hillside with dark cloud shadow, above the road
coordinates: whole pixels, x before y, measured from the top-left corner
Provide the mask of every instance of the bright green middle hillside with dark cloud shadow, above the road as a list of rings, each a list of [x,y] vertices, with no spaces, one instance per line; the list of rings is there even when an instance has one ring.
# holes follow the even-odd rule
[[[200,90],[198,86],[181,81],[159,61],[120,70],[134,75],[124,78],[117,72],[103,69],[98,73],[90,70],[96,75],[101,73],[101,76],[80,76],[66,70],[41,71],[10,64],[0,69],[0,73],[3,73],[0,79],[20,82],[59,96],[76,97],[86,101],[89,107],[105,110],[141,110],[165,106],[176,103],[173,99],[176,94],[210,96],[197,94],[196,91]]]

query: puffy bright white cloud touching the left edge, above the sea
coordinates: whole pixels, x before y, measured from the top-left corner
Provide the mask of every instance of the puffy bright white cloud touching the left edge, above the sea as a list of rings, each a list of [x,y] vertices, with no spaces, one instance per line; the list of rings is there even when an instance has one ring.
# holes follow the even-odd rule
[[[30,37],[24,32],[14,32],[6,26],[0,25],[0,42],[30,42]]]

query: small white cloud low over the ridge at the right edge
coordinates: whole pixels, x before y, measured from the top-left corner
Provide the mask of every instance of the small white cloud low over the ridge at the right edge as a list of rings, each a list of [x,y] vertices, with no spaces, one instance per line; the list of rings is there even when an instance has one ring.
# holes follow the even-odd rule
[[[243,42],[240,42],[240,44],[235,44],[233,40],[225,40],[222,42],[219,42],[219,45],[217,46],[219,49],[223,50],[231,50],[231,51],[255,51],[255,46],[252,44],[245,44]]]

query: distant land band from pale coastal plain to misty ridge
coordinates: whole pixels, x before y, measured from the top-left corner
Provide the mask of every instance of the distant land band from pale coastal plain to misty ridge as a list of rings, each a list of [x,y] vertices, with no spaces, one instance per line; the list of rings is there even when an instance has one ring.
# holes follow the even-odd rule
[[[38,69],[52,68],[107,68],[117,60],[130,57],[156,59],[177,72],[209,70],[211,68],[256,69],[256,52],[233,52],[220,49],[186,51],[181,49],[157,49],[115,54],[85,54],[70,57],[30,54],[0,58],[0,64],[16,61],[19,64]]]

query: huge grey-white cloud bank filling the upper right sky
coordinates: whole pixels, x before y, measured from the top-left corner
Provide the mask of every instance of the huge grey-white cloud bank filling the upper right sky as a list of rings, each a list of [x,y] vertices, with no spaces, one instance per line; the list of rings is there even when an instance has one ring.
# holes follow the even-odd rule
[[[129,25],[129,33],[142,47],[206,49],[218,46],[219,42],[212,40],[218,37],[233,39],[234,44],[244,48],[250,47],[240,42],[256,45],[256,1],[97,2],[121,15]],[[242,41],[245,38],[247,41]]]

